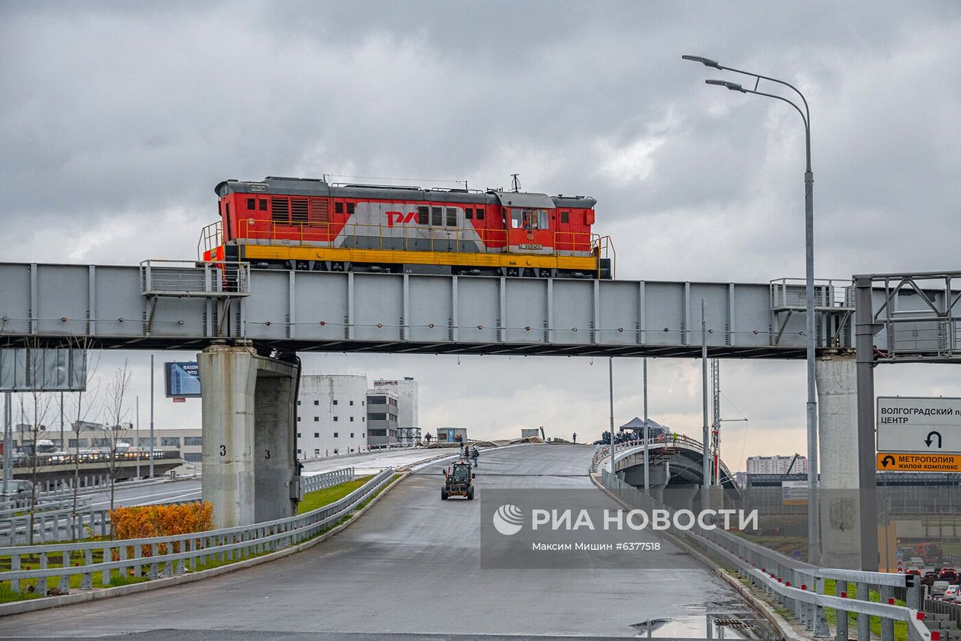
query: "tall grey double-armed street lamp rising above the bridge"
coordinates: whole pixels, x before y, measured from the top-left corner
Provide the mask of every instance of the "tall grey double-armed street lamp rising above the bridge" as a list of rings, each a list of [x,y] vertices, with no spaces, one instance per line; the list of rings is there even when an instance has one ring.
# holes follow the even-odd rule
[[[806,311],[806,333],[807,333],[807,540],[808,540],[808,562],[817,563],[821,557],[820,549],[820,528],[818,511],[818,401],[817,391],[814,380],[814,348],[816,336],[814,333],[814,172],[811,171],[811,112],[807,107],[807,99],[798,90],[798,87],[776,78],[769,78],[760,74],[735,69],[724,66],[709,58],[701,56],[681,56],[685,61],[701,62],[704,66],[718,69],[721,71],[732,71],[754,79],[754,88],[745,88],[737,83],[730,83],[725,80],[706,80],[708,85],[724,86],[731,91],[741,93],[753,93],[758,96],[775,98],[787,103],[798,113],[804,122],[804,151],[806,164],[804,166],[804,282],[805,282],[805,311]],[[758,91],[757,87],[762,80],[766,80],[778,85],[792,89],[801,97],[803,110],[794,101],[773,93]]]

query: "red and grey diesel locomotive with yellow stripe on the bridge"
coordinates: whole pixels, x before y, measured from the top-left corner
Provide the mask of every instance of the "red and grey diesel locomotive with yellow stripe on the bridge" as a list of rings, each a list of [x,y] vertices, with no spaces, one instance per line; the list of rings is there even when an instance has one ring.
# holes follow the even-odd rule
[[[267,177],[215,188],[202,259],[318,271],[613,277],[584,196]]]

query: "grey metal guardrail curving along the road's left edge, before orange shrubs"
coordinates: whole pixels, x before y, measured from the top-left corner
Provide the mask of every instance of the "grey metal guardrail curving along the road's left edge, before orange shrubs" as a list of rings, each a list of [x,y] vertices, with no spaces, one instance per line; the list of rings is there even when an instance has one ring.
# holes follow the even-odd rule
[[[250,526],[150,538],[0,548],[0,558],[10,557],[11,561],[11,570],[0,572],[0,586],[9,586],[14,594],[19,594],[21,581],[40,579],[37,593],[47,596],[48,580],[54,578],[60,593],[67,594],[70,577],[77,575],[81,577],[80,589],[89,590],[93,587],[93,576],[98,573],[104,584],[110,584],[113,571],[118,571],[120,577],[132,572],[136,577],[157,579],[183,574],[188,568],[195,570],[198,562],[206,565],[213,561],[234,561],[281,550],[336,525],[393,475],[393,468],[387,468],[333,504]],[[100,560],[94,559],[95,552]],[[25,559],[33,556],[38,557],[39,567],[23,569]],[[61,557],[65,561],[62,567],[48,567],[51,556]]]

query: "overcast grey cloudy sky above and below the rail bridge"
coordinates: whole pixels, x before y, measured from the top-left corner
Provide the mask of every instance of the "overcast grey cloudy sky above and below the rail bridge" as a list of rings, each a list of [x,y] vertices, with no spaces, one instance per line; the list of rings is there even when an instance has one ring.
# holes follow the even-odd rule
[[[961,7],[947,0],[7,0],[0,259],[192,259],[227,178],[484,188],[520,173],[525,189],[598,199],[595,229],[614,237],[620,278],[802,276],[801,119],[705,86],[741,80],[682,54],[805,92],[819,277],[959,266]],[[149,357],[129,357],[145,399]],[[305,363],[414,376],[430,429],[495,437],[545,425],[596,438],[607,423],[605,363],[586,358]],[[640,361],[615,370],[620,424],[642,412]],[[750,419],[725,427],[732,468],[804,452],[803,363],[725,361],[722,377],[725,413]],[[651,381],[653,418],[700,434],[700,364],[652,361]],[[878,394],[958,396],[959,383],[948,366],[877,370]],[[163,427],[199,415],[199,402],[157,409]]]

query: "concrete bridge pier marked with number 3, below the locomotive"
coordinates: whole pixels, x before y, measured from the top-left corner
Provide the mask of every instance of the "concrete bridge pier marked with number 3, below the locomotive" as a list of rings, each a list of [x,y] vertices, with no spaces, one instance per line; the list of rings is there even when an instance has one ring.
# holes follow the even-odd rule
[[[300,365],[252,348],[213,345],[198,355],[203,390],[203,498],[215,528],[296,513]]]

